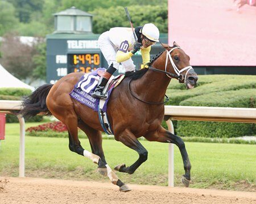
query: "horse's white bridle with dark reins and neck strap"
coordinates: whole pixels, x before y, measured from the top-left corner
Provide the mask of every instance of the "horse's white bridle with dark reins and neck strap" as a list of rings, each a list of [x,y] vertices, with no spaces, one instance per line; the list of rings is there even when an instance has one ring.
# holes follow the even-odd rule
[[[161,44],[162,44],[162,43],[161,43]],[[162,45],[163,45],[163,44],[162,44]],[[163,47],[164,47],[164,46],[163,46]],[[164,47],[164,48],[165,48],[165,47]],[[193,69],[193,67],[192,67],[192,66],[186,66],[186,67],[184,67],[184,68],[181,69],[181,70],[177,69],[177,66],[176,66],[175,63],[174,63],[174,60],[173,60],[172,57],[171,57],[171,52],[172,52],[172,50],[177,49],[177,48],[180,48],[180,47],[179,47],[179,46],[175,46],[174,48],[172,48],[172,49],[170,49],[170,50],[167,50],[167,49],[165,48],[165,49],[166,49],[166,52],[167,52],[167,53],[166,53],[166,66],[165,66],[165,69],[164,69],[165,71],[159,70],[159,69],[155,69],[154,67],[151,67],[151,66],[149,66],[149,65],[145,65],[144,68],[150,69],[150,70],[152,70],[152,71],[157,71],[157,72],[160,72],[160,73],[165,73],[169,78],[176,78],[176,79],[178,79],[180,83],[181,83],[181,81],[184,79],[184,83],[186,83],[187,73],[188,73],[189,70]],[[174,71],[175,71],[176,74],[172,74],[172,73],[170,73],[170,72],[167,71],[168,58],[170,59],[171,65],[172,65],[172,67],[174,67]],[[183,76],[182,74],[180,74],[180,73],[182,73],[182,72],[185,71],[185,70],[187,70],[187,71],[186,71],[186,73],[185,73],[185,78],[184,78],[184,76]],[[164,103],[166,103],[168,100],[170,100],[170,98],[169,98],[167,95],[165,95],[165,96],[166,96],[166,100],[163,101],[163,102],[148,102],[148,101],[144,101],[144,100],[142,100],[142,99],[139,99],[137,96],[135,96],[135,95],[133,94],[133,92],[131,92],[130,83],[131,83],[131,80],[130,80],[130,82],[129,82],[129,84],[128,84],[128,90],[129,90],[130,94],[131,94],[133,97],[135,97],[135,99],[137,99],[137,100],[139,100],[139,101],[142,101],[143,103],[158,105],[158,104],[164,104]]]

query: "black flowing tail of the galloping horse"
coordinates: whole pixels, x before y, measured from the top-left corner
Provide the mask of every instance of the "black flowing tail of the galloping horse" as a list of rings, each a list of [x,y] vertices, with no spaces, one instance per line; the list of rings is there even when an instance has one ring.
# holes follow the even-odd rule
[[[30,96],[24,97],[22,100],[22,110],[19,114],[23,117],[34,117],[38,113],[43,113],[44,116],[51,116],[52,113],[46,106],[46,97],[49,94],[53,84],[44,84],[38,87]]]

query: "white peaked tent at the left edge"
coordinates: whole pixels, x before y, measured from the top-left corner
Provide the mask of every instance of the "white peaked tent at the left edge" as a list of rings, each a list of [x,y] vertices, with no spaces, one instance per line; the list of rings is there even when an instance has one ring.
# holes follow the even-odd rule
[[[34,87],[17,79],[15,76],[11,75],[5,68],[0,64],[0,88],[28,88],[32,91],[35,90]]]

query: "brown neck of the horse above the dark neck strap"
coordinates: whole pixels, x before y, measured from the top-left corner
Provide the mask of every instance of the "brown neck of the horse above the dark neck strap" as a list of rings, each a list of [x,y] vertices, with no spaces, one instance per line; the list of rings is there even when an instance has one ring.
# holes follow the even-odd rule
[[[159,66],[162,65],[154,63],[155,68]],[[143,100],[159,102],[166,94],[170,80],[166,74],[148,70],[141,79],[134,81],[134,91],[143,97]]]

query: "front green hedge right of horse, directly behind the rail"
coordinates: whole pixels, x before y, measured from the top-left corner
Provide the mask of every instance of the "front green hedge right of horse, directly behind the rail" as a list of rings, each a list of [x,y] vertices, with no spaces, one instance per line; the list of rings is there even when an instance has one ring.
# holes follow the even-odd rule
[[[256,90],[249,88],[190,97],[180,105],[255,108],[255,100]],[[230,138],[256,134],[255,124],[235,122],[178,121],[176,131],[183,137]]]

